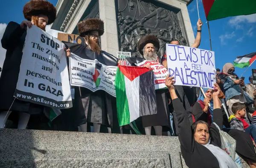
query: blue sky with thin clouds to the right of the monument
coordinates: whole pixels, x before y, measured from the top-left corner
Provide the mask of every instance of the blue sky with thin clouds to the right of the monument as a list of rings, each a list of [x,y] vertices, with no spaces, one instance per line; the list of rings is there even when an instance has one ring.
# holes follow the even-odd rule
[[[188,6],[189,17],[196,36],[198,21],[197,1]],[[201,44],[199,48],[210,50],[209,31],[202,0],[198,0],[199,16],[203,22]],[[215,67],[222,70],[225,63],[233,61],[237,56],[256,52],[256,14],[227,17],[209,21],[212,50],[215,52]],[[256,69],[254,62],[243,74],[244,82],[249,83],[252,70]],[[246,68],[235,67],[235,73],[240,77]]]

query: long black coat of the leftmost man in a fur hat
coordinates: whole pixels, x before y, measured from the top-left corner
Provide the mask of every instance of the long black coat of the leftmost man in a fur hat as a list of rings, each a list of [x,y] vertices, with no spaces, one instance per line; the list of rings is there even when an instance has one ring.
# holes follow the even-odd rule
[[[0,77],[0,112],[8,111],[11,105],[10,111],[28,112],[30,114],[41,113],[44,109],[44,106],[20,101],[17,98],[13,102],[25,37],[25,29],[21,29],[16,22],[9,22],[1,39],[2,47],[6,49],[6,58],[3,62]]]

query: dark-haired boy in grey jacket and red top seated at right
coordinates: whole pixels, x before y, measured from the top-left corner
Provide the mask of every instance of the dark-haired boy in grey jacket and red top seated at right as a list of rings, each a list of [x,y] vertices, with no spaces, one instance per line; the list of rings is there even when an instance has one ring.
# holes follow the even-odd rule
[[[231,110],[234,115],[230,115],[228,119],[232,129],[239,129],[248,132],[256,142],[256,124],[250,125],[249,120],[246,118],[246,106],[243,103],[236,102],[233,104]]]

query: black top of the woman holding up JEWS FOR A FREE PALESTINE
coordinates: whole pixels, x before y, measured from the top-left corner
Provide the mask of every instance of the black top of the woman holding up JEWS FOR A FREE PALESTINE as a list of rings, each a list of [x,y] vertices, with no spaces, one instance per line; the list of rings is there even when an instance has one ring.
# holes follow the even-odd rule
[[[177,125],[180,132],[180,149],[186,165],[189,168],[219,168],[218,160],[212,152],[195,141],[189,118],[179,98],[173,100],[173,106],[177,113]],[[214,109],[213,113],[213,122],[222,129],[223,119],[221,109]],[[220,147],[221,137],[219,130],[214,124],[210,126],[209,133],[211,137],[211,144]]]

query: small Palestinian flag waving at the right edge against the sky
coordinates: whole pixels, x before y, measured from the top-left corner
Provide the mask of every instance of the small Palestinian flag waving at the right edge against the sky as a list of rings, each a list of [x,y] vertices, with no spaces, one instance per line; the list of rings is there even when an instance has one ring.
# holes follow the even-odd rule
[[[250,53],[245,56],[238,56],[236,60],[233,61],[235,67],[244,68],[249,67],[256,59],[256,52]]]

